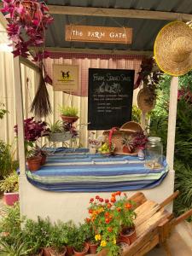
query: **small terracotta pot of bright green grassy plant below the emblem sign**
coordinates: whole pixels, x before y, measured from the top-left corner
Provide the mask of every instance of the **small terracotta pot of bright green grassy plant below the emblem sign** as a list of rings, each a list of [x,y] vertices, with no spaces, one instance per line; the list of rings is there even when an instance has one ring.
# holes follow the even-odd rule
[[[64,122],[72,124],[79,119],[78,108],[68,107],[68,106],[60,106],[59,110],[61,113],[61,119]]]

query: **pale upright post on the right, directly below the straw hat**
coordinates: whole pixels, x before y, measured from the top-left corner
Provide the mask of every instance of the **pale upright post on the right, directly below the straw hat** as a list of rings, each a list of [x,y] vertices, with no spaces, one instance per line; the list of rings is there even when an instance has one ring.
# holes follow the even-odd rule
[[[177,90],[178,78],[172,77],[170,88],[170,102],[169,102],[169,120],[167,132],[167,146],[166,146],[166,161],[171,170],[173,170],[174,149],[175,149],[175,131],[177,118]]]

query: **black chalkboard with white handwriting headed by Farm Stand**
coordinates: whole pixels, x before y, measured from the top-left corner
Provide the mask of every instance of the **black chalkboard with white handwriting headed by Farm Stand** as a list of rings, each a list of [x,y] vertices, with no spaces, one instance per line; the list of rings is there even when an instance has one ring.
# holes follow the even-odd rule
[[[131,120],[134,74],[89,68],[88,130],[108,130]]]

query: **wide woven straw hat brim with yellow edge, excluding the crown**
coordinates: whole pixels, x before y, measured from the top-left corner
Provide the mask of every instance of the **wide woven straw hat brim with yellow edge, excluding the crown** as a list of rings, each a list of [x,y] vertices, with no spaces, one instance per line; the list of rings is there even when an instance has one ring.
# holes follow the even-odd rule
[[[164,26],[154,42],[154,59],[164,73],[181,76],[192,69],[192,52],[184,61],[172,61],[171,45],[179,37],[191,38],[192,29],[182,21],[173,21]]]

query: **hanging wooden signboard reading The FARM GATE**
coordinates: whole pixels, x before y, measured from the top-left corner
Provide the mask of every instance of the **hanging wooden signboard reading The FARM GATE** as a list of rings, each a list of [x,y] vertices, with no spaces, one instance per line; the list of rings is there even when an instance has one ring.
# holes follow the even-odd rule
[[[66,25],[66,41],[131,44],[132,28]]]

